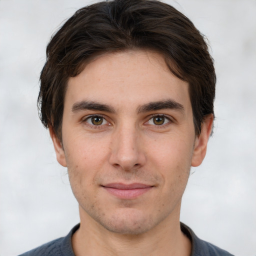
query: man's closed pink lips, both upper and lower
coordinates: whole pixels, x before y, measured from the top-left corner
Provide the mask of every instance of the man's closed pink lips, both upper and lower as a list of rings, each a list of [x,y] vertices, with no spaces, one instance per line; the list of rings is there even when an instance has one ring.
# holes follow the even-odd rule
[[[120,199],[133,199],[149,191],[153,186],[143,183],[109,183],[102,187]]]

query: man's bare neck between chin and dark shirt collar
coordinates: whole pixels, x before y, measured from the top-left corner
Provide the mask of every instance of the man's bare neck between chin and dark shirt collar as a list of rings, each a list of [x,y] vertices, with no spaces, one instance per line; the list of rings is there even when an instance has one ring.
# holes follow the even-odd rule
[[[140,234],[111,232],[89,216],[80,216],[80,227],[72,236],[74,254],[189,256],[191,242],[180,230],[177,215],[174,218],[176,221],[168,221],[167,217],[151,230]]]

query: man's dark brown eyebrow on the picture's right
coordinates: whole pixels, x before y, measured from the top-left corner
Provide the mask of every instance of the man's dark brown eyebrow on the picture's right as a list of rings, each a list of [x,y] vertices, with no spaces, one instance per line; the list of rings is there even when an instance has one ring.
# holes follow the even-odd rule
[[[137,112],[149,112],[160,109],[175,109],[184,112],[184,106],[173,99],[149,102],[147,104],[139,106],[137,108]]]

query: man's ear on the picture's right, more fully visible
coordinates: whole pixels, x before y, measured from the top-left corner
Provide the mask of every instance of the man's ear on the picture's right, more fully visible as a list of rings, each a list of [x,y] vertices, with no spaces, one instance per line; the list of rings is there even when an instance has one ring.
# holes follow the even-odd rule
[[[202,160],[206,154],[206,148],[212,129],[212,123],[213,114],[206,115],[201,124],[201,133],[195,138],[191,166],[196,167],[202,163]]]

